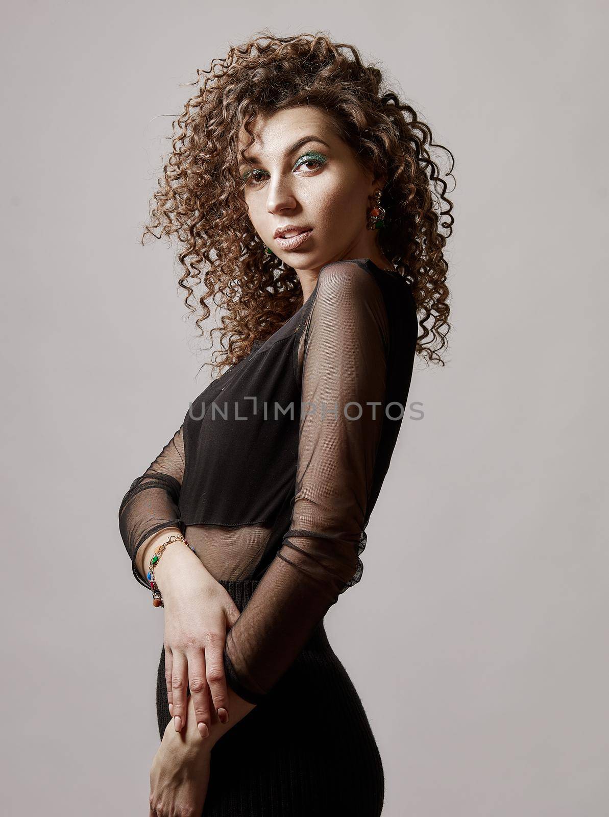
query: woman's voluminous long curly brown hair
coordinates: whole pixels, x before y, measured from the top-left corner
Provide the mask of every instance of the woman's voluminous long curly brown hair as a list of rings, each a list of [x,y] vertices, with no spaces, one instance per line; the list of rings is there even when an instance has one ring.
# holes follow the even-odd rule
[[[447,183],[428,146],[450,155],[447,176],[454,167],[451,151],[434,145],[429,126],[383,87],[380,70],[365,65],[356,47],[332,42],[325,33],[277,37],[264,29],[197,75],[187,84],[198,91],[173,122],[172,150],[141,242],[177,234],[183,268],[178,284],[189,311],[196,314],[196,304],[202,308],[196,324],[203,336],[202,322],[211,314],[207,301],[225,310],[220,326],[211,329],[221,333],[216,368],[238,363],[253,342],[276,332],[303,303],[296,271],[264,252],[238,172],[241,129],[251,136],[257,114],[296,105],[329,114],[362,167],[387,179],[379,247],[411,283],[422,330],[416,353],[444,365],[440,352],[451,327],[443,248],[454,218]],[[205,292],[197,298],[201,284]]]

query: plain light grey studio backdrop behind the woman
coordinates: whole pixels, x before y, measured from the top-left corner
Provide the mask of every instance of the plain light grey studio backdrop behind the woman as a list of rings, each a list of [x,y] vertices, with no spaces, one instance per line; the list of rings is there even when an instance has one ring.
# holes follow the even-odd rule
[[[162,614],[118,504],[209,369],[139,225],[180,83],[266,25],[382,61],[457,160],[451,354],[417,367],[425,417],[327,616],[384,815],[608,813],[603,5],[5,6],[7,815],[148,815]]]

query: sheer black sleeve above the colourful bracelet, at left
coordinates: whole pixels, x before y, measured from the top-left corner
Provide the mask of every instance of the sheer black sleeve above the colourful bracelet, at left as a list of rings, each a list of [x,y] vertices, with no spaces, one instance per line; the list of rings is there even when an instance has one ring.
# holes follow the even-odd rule
[[[131,557],[133,575],[149,590],[149,583],[136,568],[136,554],[150,536],[163,528],[177,527],[184,533],[178,508],[183,478],[184,424],[144,474],[133,480],[118,510],[118,526]]]

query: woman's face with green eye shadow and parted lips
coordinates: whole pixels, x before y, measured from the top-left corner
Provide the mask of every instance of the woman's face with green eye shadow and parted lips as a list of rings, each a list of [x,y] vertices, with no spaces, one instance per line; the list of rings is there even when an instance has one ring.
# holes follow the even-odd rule
[[[251,163],[240,163],[239,172],[251,224],[267,247],[312,278],[329,261],[379,258],[367,211],[382,184],[358,165],[327,114],[283,109],[267,118],[259,114],[251,129],[256,141],[245,153]],[[240,149],[248,138],[242,132]],[[305,233],[291,239],[276,234],[290,226]]]

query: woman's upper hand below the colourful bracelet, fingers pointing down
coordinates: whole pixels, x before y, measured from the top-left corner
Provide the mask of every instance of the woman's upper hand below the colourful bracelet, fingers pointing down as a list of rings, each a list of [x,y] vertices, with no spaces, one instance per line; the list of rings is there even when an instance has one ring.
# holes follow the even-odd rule
[[[167,702],[177,732],[186,724],[187,687],[198,730],[211,730],[210,700],[221,723],[229,720],[224,676],[226,633],[239,618],[238,606],[202,564],[179,543],[171,544],[154,570],[165,610]]]

